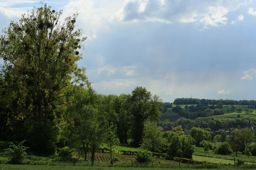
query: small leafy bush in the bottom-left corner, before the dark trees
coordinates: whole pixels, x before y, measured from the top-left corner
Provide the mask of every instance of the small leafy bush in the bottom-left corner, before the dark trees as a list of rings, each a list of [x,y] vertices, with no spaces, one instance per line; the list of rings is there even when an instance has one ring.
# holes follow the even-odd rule
[[[18,146],[11,142],[9,148],[4,150],[4,153],[9,155],[9,163],[22,164],[24,159],[27,157],[26,150],[28,147],[23,146],[25,141],[26,140],[21,141]]]

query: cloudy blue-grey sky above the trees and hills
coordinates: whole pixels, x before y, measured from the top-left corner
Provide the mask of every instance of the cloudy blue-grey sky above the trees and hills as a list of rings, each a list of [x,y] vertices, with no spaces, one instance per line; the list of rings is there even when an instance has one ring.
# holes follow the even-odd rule
[[[256,1],[43,2],[63,18],[79,13],[87,40],[78,66],[99,94],[142,86],[163,102],[256,100]],[[0,28],[33,7],[40,1],[0,0]]]

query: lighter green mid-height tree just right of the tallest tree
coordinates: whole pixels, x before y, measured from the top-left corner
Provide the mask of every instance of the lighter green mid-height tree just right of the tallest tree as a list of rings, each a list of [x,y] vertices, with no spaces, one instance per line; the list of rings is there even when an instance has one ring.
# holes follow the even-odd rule
[[[100,95],[89,88],[76,87],[75,96],[64,110],[66,133],[71,147],[81,150],[86,160],[89,148],[99,147],[105,137],[105,116],[101,107]],[[91,152],[93,152],[91,151]],[[94,157],[93,157],[94,158]],[[92,162],[93,163],[93,162]]]

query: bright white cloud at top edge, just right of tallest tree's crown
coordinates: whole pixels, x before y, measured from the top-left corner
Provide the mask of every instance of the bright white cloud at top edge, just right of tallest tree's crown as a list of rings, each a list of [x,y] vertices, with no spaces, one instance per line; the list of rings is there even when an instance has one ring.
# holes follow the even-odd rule
[[[109,2],[109,3],[106,3]],[[99,4],[98,4],[99,3]],[[84,35],[88,40],[97,38],[101,30],[109,30],[109,23],[112,22],[117,11],[122,7],[123,2],[118,0],[111,1],[93,1],[93,0],[75,0],[70,1],[65,7],[65,14],[78,12],[78,21],[80,27],[85,28]]]

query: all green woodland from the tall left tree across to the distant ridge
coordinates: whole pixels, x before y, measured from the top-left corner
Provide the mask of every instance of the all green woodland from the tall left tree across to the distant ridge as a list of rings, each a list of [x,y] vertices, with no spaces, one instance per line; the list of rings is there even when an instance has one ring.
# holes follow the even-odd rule
[[[211,130],[248,125],[246,118],[222,122],[211,116],[227,112],[223,105],[248,105],[252,109],[254,101],[176,99],[176,105],[195,105],[184,110],[181,106],[163,104],[159,96],[145,87],[138,86],[130,94],[97,94],[88,81],[86,69],[77,65],[82,59],[79,49],[86,40],[81,37],[82,30],[76,28],[78,14],[60,23],[61,14],[62,11],[56,12],[42,3],[41,8],[34,8],[3,30],[1,141],[26,140],[24,145],[34,154],[44,156],[55,154],[57,147],[69,146],[83,154],[85,160],[89,152],[94,159],[103,143],[110,150],[120,142],[140,143],[151,152],[191,159],[195,146],[209,146],[213,136],[195,127],[188,136],[181,126],[172,133],[164,132],[157,127],[161,111],[172,107],[182,117],[172,123],[208,123]],[[251,122],[256,125],[255,119]],[[245,151],[254,140],[254,131],[235,130],[233,137],[227,147],[234,152]]]

